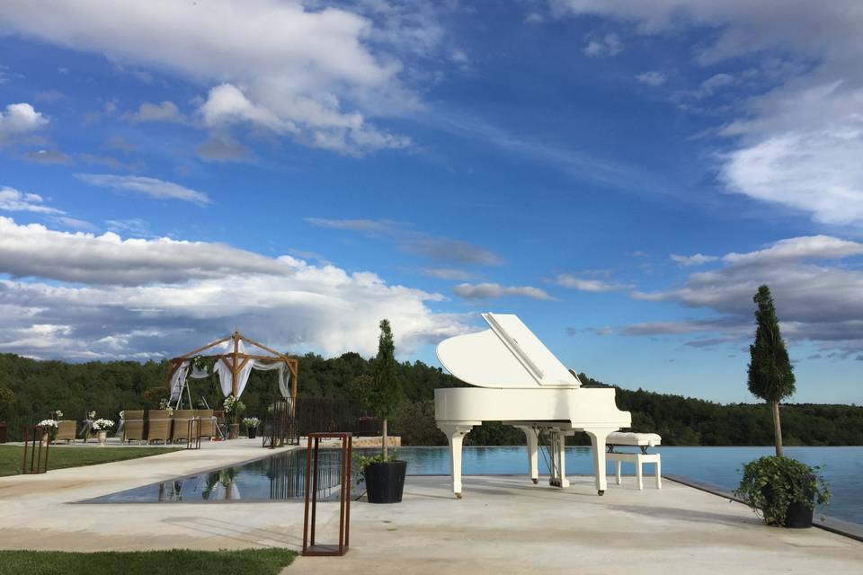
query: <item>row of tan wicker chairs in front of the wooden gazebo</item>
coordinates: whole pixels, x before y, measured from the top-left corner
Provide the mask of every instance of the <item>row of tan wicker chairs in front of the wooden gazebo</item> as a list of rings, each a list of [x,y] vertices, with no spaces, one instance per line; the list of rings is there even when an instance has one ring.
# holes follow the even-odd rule
[[[200,420],[200,437],[214,438],[218,425],[213,410],[165,410],[125,411],[123,419],[123,442],[161,441],[163,443],[188,439],[189,421]]]

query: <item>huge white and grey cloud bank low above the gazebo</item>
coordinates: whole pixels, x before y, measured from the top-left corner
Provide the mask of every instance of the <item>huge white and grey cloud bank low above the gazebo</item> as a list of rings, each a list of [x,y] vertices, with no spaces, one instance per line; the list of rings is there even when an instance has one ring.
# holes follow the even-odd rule
[[[442,296],[289,256],[218,243],[69,234],[0,218],[0,349],[45,358],[149,358],[239,326],[277,349],[327,355],[378,344],[402,353],[469,328]]]

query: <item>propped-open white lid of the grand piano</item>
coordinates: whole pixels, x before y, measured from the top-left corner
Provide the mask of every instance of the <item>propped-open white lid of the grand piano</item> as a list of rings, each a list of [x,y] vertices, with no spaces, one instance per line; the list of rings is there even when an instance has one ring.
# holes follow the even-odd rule
[[[440,364],[479,387],[579,387],[581,382],[514,314],[483,314],[491,329],[441,341]]]

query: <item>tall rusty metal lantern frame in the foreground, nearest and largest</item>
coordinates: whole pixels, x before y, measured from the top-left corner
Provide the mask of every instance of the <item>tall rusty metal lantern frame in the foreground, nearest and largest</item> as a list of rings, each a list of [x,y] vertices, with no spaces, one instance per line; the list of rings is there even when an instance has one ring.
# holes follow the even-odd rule
[[[342,485],[339,501],[339,544],[315,544],[317,512],[317,461],[321,439],[341,439]],[[314,446],[314,449],[313,449]],[[306,449],[306,515],[303,518],[303,555],[307,557],[339,556],[347,553],[351,538],[351,433],[309,433]],[[315,464],[313,466],[312,459]],[[309,481],[311,480],[311,481]],[[309,489],[311,483],[311,489]],[[311,529],[309,529],[309,493],[311,493]],[[309,536],[310,535],[310,536]]]

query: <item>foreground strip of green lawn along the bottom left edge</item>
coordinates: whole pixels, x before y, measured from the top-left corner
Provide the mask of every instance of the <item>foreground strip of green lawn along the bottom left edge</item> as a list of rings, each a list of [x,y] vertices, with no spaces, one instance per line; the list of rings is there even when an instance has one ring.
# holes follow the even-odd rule
[[[113,449],[111,449],[113,451]],[[287,549],[241,551],[171,551],[65,553],[58,551],[0,551],[0,575],[274,575],[294,560]]]

